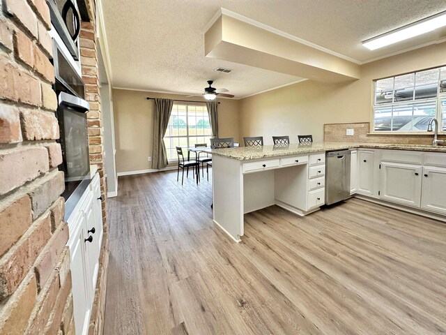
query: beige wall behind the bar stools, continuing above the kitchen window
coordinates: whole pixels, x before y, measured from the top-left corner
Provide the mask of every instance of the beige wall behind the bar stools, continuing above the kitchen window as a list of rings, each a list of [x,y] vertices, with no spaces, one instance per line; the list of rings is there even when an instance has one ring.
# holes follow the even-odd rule
[[[361,66],[361,79],[342,84],[306,80],[240,100],[240,138],[312,134],[323,140],[323,124],[368,122],[372,80],[446,64],[446,43],[431,45]],[[390,139],[391,141],[391,139]]]

